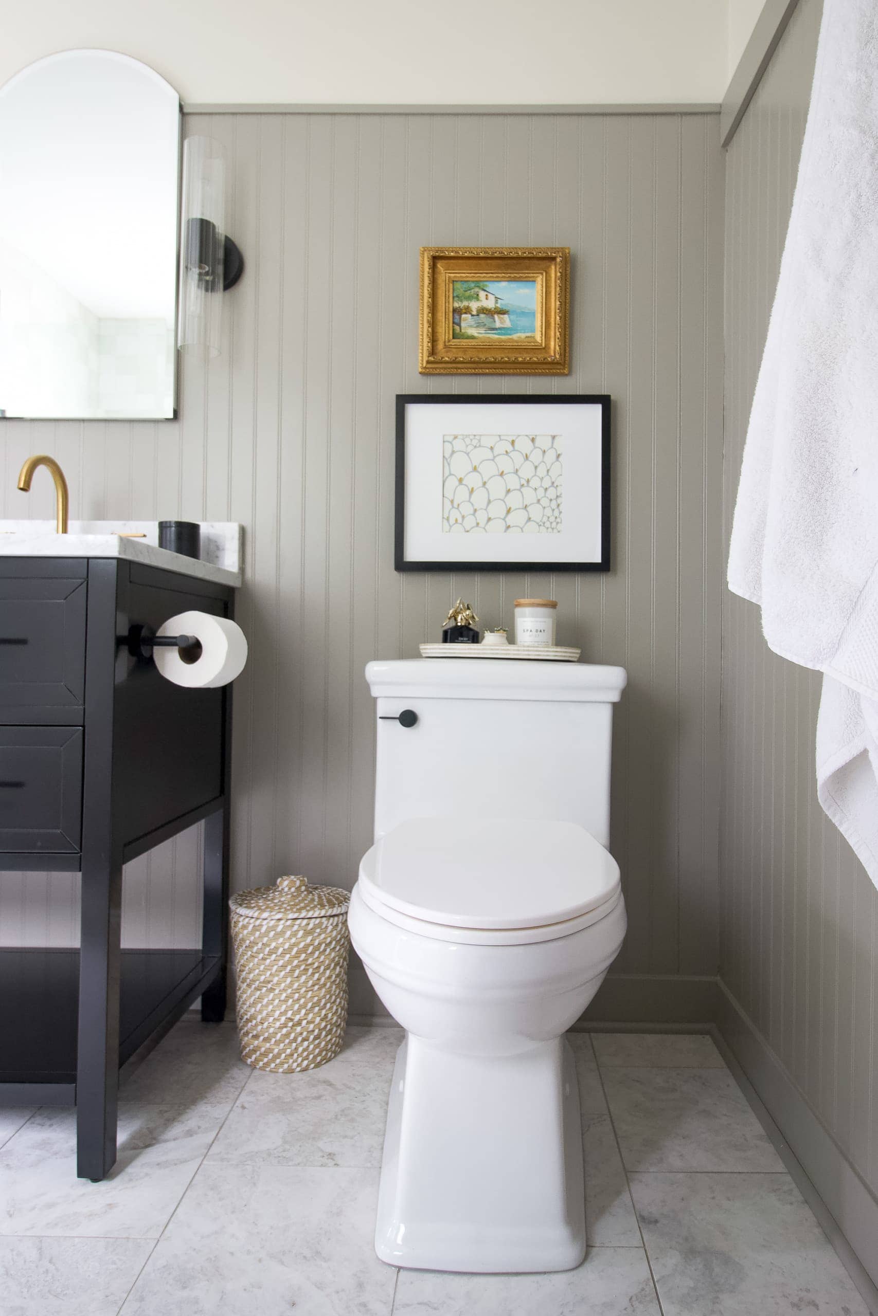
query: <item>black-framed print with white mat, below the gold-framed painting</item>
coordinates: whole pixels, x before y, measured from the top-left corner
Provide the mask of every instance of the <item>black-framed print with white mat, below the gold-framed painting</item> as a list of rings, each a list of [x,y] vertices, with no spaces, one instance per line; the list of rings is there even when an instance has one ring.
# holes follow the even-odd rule
[[[396,399],[398,571],[608,571],[606,393]]]

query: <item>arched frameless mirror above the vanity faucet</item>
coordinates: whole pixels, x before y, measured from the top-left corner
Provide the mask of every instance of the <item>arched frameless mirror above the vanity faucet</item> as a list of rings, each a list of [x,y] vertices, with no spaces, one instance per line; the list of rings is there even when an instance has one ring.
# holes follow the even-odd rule
[[[0,88],[0,416],[174,416],[180,103],[67,50]]]

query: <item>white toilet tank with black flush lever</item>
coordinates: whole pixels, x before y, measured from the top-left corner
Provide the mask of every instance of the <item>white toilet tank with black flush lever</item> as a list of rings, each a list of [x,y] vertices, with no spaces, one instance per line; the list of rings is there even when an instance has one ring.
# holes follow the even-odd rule
[[[375,840],[411,817],[559,819],[609,844],[621,667],[503,658],[370,662]],[[412,726],[398,721],[411,709]]]

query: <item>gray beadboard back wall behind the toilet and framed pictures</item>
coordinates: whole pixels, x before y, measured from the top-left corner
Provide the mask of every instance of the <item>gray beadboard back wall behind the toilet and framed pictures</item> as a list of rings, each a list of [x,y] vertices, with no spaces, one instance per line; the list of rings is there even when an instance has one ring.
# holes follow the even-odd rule
[[[74,516],[246,526],[234,887],[290,871],[350,887],[371,841],[366,662],[416,657],[458,595],[508,625],[516,596],[545,594],[563,642],[629,671],[615,730],[612,846],[629,911],[617,971],[715,974],[719,116],[224,113],[187,116],[186,132],[229,151],[246,271],[222,354],[207,370],[184,362],[179,422],[0,421],[3,515],[26,505],[20,462],[47,451]],[[421,243],[569,245],[570,375],[419,375]],[[609,392],[612,571],[398,575],[403,391]],[[30,512],[49,516],[50,482],[36,486]],[[130,866],[128,945],[196,942],[199,846],[196,830]],[[0,923],[4,942],[75,944],[76,879],[4,874]]]

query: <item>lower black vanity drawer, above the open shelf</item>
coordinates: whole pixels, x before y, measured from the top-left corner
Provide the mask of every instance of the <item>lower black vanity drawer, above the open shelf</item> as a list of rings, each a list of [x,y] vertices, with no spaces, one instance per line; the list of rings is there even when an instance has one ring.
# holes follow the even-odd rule
[[[80,726],[0,726],[0,851],[75,854],[82,834]]]

